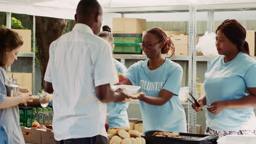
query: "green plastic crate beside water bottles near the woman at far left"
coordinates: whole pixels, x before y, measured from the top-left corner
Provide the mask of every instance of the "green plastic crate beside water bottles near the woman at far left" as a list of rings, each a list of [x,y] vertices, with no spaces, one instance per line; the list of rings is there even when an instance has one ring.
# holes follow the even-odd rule
[[[32,107],[19,107],[20,126],[31,127]]]

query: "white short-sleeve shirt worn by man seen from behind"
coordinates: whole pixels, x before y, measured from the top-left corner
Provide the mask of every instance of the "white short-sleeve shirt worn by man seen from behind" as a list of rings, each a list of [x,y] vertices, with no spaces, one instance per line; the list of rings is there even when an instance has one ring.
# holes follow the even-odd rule
[[[44,80],[53,83],[53,129],[57,141],[107,136],[107,105],[96,87],[117,83],[108,43],[82,23],[51,43]]]

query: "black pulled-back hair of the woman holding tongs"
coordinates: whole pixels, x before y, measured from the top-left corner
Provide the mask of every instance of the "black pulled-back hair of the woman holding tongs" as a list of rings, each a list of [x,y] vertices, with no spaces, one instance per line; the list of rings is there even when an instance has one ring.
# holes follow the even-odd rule
[[[239,51],[250,55],[249,45],[246,39],[246,29],[236,20],[225,20],[216,29],[222,31],[223,34],[233,43],[237,45]]]

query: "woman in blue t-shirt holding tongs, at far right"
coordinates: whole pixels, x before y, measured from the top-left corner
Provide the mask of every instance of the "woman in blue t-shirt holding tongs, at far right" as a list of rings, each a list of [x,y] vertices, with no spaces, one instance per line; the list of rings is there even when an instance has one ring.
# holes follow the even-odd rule
[[[225,20],[216,29],[219,56],[205,73],[206,134],[256,134],[256,61],[249,56],[246,29],[236,20]]]

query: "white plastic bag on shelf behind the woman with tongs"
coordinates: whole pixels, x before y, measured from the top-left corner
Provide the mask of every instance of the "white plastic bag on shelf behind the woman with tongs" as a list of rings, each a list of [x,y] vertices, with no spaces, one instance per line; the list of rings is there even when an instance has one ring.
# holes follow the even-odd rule
[[[196,51],[202,52],[203,56],[219,56],[215,46],[216,34],[205,32],[205,35],[199,38],[196,45]]]

